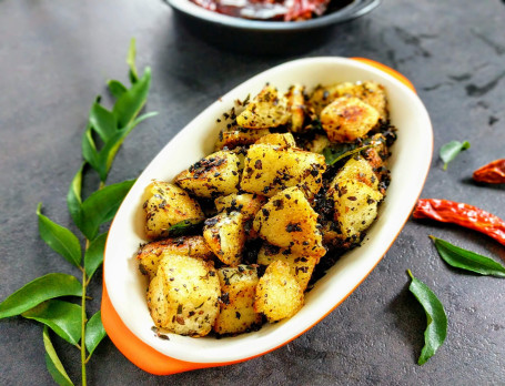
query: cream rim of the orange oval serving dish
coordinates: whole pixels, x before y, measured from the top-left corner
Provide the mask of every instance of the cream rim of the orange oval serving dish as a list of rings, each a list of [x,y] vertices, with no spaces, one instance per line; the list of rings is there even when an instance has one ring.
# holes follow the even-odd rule
[[[332,302],[331,305],[329,307],[326,307],[324,309],[324,312],[320,312],[317,314],[317,317],[315,318],[311,318],[310,322],[309,322],[309,325],[307,323],[304,324],[304,327],[303,328],[299,328],[296,329],[296,332],[294,333],[290,333],[287,337],[284,337],[283,339],[276,339],[275,343],[273,343],[272,345],[266,345],[266,346],[262,346],[262,348],[260,349],[255,349],[253,353],[251,352],[248,352],[248,353],[244,353],[242,355],[231,355],[230,356],[230,353],[228,353],[229,356],[223,356],[221,358],[216,358],[215,355],[195,355],[195,353],[192,353],[191,355],[188,355],[188,353],[185,353],[185,355],[179,355],[179,353],[174,353],[173,351],[165,351],[165,349],[162,349],[160,351],[158,345],[152,345],[150,344],[149,342],[145,342],[144,338],[142,338],[141,336],[139,336],[135,332],[134,332],[134,328],[132,329],[131,326],[129,325],[128,321],[124,319],[124,317],[121,316],[121,306],[118,307],[118,297],[113,294],[114,290],[113,290],[113,286],[110,285],[110,280],[108,280],[109,277],[109,272],[110,272],[110,268],[109,267],[109,264],[105,264],[104,266],[104,284],[107,284],[107,288],[109,291],[109,295],[110,295],[110,299],[111,299],[111,303],[112,305],[114,306],[114,308],[117,309],[118,314],[120,315],[122,322],[124,322],[124,324],[127,325],[127,327],[137,336],[139,337],[141,341],[143,341],[145,344],[148,344],[149,346],[153,347],[154,349],[161,352],[163,355],[166,355],[166,356],[170,356],[170,357],[173,357],[173,358],[176,358],[176,359],[180,359],[180,360],[189,360],[189,362],[193,362],[193,363],[224,363],[224,362],[233,362],[233,360],[245,360],[250,357],[253,357],[253,356],[257,356],[257,355],[262,355],[266,352],[270,352],[272,349],[275,349],[277,348],[279,346],[282,346],[283,344],[296,338],[297,336],[300,336],[301,334],[303,334],[304,332],[306,332],[307,329],[312,328],[315,324],[317,324],[322,318],[324,318],[329,313],[331,313],[339,304],[341,304],[352,292],[354,292],[354,290],[367,277],[367,275],[373,271],[373,268],[375,267],[376,264],[378,264],[378,262],[382,260],[383,255],[387,252],[388,247],[391,246],[391,244],[394,243],[394,241],[396,240],[397,237],[397,234],[400,233],[400,231],[403,228],[403,225],[404,223],[407,221],[408,219],[408,214],[410,212],[412,211],[412,207],[413,205],[415,204],[415,201],[416,199],[418,197],[420,193],[421,193],[421,190],[422,190],[422,186],[424,185],[424,181],[425,181],[425,177],[427,175],[427,172],[430,170],[430,164],[431,164],[431,159],[432,159],[432,153],[433,153],[433,130],[432,130],[432,126],[431,126],[431,122],[430,122],[430,116],[427,114],[427,111],[424,106],[424,104],[422,103],[422,101],[417,98],[417,95],[412,91],[410,90],[406,85],[404,85],[402,82],[400,82],[398,80],[392,78],[388,73],[382,71],[382,70],[377,70],[376,68],[370,65],[370,64],[366,64],[366,63],[361,63],[361,62],[357,62],[355,60],[352,60],[352,59],[346,59],[346,58],[339,58],[339,57],[321,57],[321,58],[306,58],[306,59],[300,59],[300,60],[294,60],[294,61],[290,61],[290,62],[286,62],[286,63],[283,63],[283,64],[280,64],[277,67],[274,67],[270,70],[266,70],[255,77],[252,77],[251,79],[246,80],[245,82],[239,84],[238,87],[233,88],[229,93],[226,93],[226,95],[224,95],[222,99],[220,99],[219,101],[212,103],[209,108],[206,108],[203,112],[201,112],[193,121],[191,121],[184,129],[181,130],[180,133],[178,133],[160,152],[159,154],[151,161],[151,163],[145,167],[144,172],[141,174],[141,176],[147,172],[147,171],[150,171],[150,169],[152,167],[152,164],[154,164],[156,162],[156,160],[159,159],[160,154],[161,153],[164,153],[166,152],[166,150],[169,149],[170,144],[171,143],[176,143],[179,140],[180,140],[180,136],[181,135],[184,135],[184,132],[191,128],[192,125],[195,124],[195,121],[198,121],[199,118],[201,118],[202,115],[209,115],[209,112],[212,112],[212,110],[215,110],[218,106],[220,109],[221,112],[225,111],[226,110],[226,106],[225,104],[222,104],[222,101],[223,99],[225,99],[225,96],[228,95],[233,95],[233,94],[236,94],[238,93],[238,90],[239,89],[244,89],[246,87],[249,87],[251,83],[257,83],[260,82],[260,79],[263,79],[263,83],[264,83],[264,79],[267,78],[267,77],[272,77],[273,73],[275,73],[276,71],[282,71],[282,70],[285,70],[286,68],[289,69],[290,67],[293,68],[296,70],[296,67],[300,65],[300,67],[303,67],[303,65],[310,65],[310,64],[319,64],[319,65],[344,65],[344,67],[350,67],[352,69],[358,69],[358,71],[364,71],[365,73],[367,74],[373,74],[374,77],[377,77],[377,78],[383,78],[383,79],[386,79],[388,83],[392,83],[394,84],[394,88],[395,89],[400,89],[402,90],[403,93],[406,93],[407,95],[410,95],[410,98],[412,100],[415,101],[416,103],[416,106],[417,109],[421,109],[421,112],[424,114],[423,119],[425,120],[425,123],[427,123],[427,126],[426,126],[426,134],[427,135],[427,139],[425,141],[426,144],[428,144],[428,151],[423,153],[424,154],[424,163],[423,163],[423,167],[421,170],[421,174],[424,174],[424,177],[422,175],[422,177],[420,180],[416,180],[416,181],[421,181],[421,182],[417,182],[417,190],[415,192],[415,197],[410,200],[410,205],[406,210],[404,210],[403,212],[406,213],[406,215],[404,215],[402,217],[402,220],[400,221],[401,224],[396,224],[394,230],[396,230],[394,232],[394,235],[393,236],[388,236],[387,237],[387,245],[385,247],[381,247],[381,252],[380,252],[380,255],[375,257],[374,260],[374,264],[372,266],[368,266],[366,272],[364,272],[363,275],[361,275],[358,277],[358,281],[355,283],[355,285],[352,286],[352,288],[349,290],[349,292],[342,296],[341,298],[337,299],[337,302]],[[294,71],[294,70],[293,70]],[[363,73],[362,77],[366,77],[366,74]],[[374,78],[372,77],[372,78]],[[375,79],[376,80],[376,79]],[[272,82],[273,83],[273,82]],[[311,87],[313,87],[315,84],[311,84]],[[233,98],[236,98],[236,95],[234,95]],[[232,99],[233,99],[232,98]],[[243,98],[243,96],[242,96]],[[215,115],[214,115],[215,118]],[[393,122],[394,123],[394,122]],[[401,128],[400,128],[401,129]],[[423,173],[424,172],[424,173]],[[141,181],[141,176],[139,177],[138,182],[135,184],[138,184],[140,181]],[[132,189],[133,191],[133,189]],[[131,194],[132,192],[129,193],[129,195]],[[127,196],[127,199],[124,200],[123,204],[121,205],[120,210],[118,211],[118,215],[114,217],[114,221],[111,225],[111,231],[114,228],[114,224],[117,222],[117,219],[119,216],[119,214],[121,213],[121,211],[123,211],[123,205],[124,203],[128,201],[128,197],[129,195]],[[404,207],[405,209],[405,207]],[[111,235],[113,234],[113,232],[111,232],[109,234],[109,237],[108,237],[108,243],[107,243],[107,248],[105,248],[105,257],[109,255],[109,241],[111,238]],[[363,247],[362,247],[363,248]],[[360,250],[362,250],[360,248]],[[351,251],[350,253],[352,253],[353,251]],[[375,253],[376,255],[377,253]],[[332,268],[333,270],[333,268]],[[331,271],[331,270],[330,270]],[[329,277],[330,275],[326,275],[325,277]],[[334,276],[334,275],[332,275]],[[324,278],[324,277],[323,277]],[[319,284],[320,282],[317,282]],[[316,285],[317,285],[316,284]],[[112,290],[112,291],[111,291]],[[322,296],[320,296],[322,297]],[[115,298],[115,299],[114,299]],[[303,309],[303,308],[302,308]],[[294,316],[296,317],[296,315]],[[286,321],[289,322],[289,321]],[[283,323],[280,323],[277,324],[276,326],[279,325],[283,325],[285,324],[284,322]],[[265,328],[265,327],[263,327]],[[277,329],[275,327],[275,329]],[[256,334],[256,333],[253,333],[253,334]],[[243,335],[249,335],[249,334],[243,334]],[[241,335],[241,336],[243,336]],[[193,339],[193,338],[189,338],[189,339]],[[160,341],[160,339],[159,339]],[[222,342],[222,341],[216,341],[216,342]],[[196,353],[198,354],[198,353]]]

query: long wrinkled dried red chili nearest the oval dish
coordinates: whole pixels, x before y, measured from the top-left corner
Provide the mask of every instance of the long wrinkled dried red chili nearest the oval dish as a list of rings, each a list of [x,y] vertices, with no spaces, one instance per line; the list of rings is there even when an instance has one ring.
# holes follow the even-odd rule
[[[414,219],[433,219],[482,232],[505,245],[505,221],[479,207],[447,200],[425,199],[417,202]]]

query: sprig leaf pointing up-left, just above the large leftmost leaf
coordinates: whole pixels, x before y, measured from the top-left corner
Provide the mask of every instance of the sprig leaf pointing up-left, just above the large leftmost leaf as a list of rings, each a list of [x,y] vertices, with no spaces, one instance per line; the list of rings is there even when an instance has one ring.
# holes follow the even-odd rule
[[[58,225],[40,213],[42,204],[37,207],[39,216],[39,234],[40,237],[54,252],[62,255],[69,263],[79,267],[81,265],[81,244],[79,238],[68,228]]]

